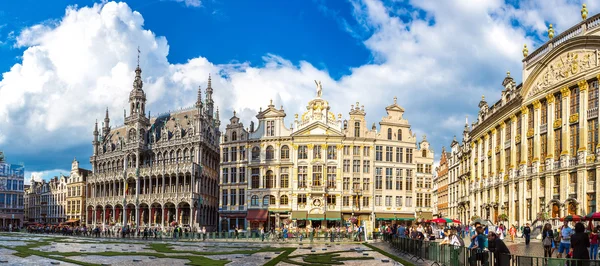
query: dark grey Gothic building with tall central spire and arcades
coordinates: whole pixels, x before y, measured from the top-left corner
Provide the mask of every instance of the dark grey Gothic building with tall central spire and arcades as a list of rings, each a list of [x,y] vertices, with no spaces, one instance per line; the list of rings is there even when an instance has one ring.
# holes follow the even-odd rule
[[[179,225],[209,230],[217,223],[219,117],[208,79],[195,106],[151,117],[139,65],[124,125],[94,129],[93,173],[87,179],[88,225]]]

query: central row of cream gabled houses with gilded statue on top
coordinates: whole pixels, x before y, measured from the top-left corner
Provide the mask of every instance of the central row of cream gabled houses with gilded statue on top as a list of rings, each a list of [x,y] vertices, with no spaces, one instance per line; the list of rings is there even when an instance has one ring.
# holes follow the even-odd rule
[[[425,136],[417,142],[396,99],[379,130],[358,103],[349,119],[336,117],[320,82],[306,109],[290,128],[272,101],[257,128],[233,113],[221,141],[221,230],[431,218],[433,150]]]

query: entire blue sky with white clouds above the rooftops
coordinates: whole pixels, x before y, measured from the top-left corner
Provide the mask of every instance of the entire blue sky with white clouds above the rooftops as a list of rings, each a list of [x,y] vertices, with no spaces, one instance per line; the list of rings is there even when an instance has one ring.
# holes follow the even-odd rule
[[[94,121],[123,123],[137,47],[152,113],[192,105],[213,75],[221,120],[248,124],[269,99],[287,124],[315,95],[369,124],[398,97],[436,158],[506,71],[520,82],[532,52],[581,20],[572,0],[3,0],[0,150],[27,177],[90,167]],[[588,1],[590,16],[600,2]],[[533,48],[532,48],[533,47]],[[225,124],[225,123],[223,123]]]

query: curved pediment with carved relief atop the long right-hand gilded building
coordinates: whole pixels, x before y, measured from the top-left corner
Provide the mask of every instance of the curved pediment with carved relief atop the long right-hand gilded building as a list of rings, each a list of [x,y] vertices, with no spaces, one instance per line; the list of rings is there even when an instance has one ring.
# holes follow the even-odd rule
[[[536,80],[532,83],[527,97],[533,97],[547,89],[552,88],[558,82],[569,79],[581,72],[587,72],[598,66],[595,58],[598,51],[575,50],[560,55],[552,62],[548,63]],[[563,94],[563,96],[566,96]]]

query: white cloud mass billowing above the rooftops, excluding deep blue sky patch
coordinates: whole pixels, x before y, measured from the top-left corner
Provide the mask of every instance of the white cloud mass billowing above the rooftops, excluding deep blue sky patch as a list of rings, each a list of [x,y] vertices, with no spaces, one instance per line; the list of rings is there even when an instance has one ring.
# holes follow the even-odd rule
[[[140,46],[148,109],[155,114],[192,105],[197,87],[205,87],[213,73],[222,124],[236,110],[248,125],[269,99],[283,105],[289,118],[314,97],[316,79],[323,82],[333,112],[346,115],[360,100],[370,123],[378,122],[384,106],[398,96],[413,131],[427,133],[439,155],[452,135],[462,133],[461,117],[476,112],[481,94],[490,102],[497,99],[507,70],[519,78],[522,44],[535,43],[527,29],[541,36],[546,20],[559,25],[577,22],[577,5],[563,2],[564,12],[574,12],[564,21],[545,2],[517,9],[499,0],[412,1],[426,14],[420,18],[406,6],[352,1],[359,26],[348,29],[347,21],[338,21],[355,37],[362,36],[359,30],[368,34],[364,44],[376,61],[339,80],[310,62],[294,64],[273,54],[264,56],[261,67],[213,64],[205,57],[171,64],[167,39],[145,29],[142,14],[127,4],[69,7],[60,21],[31,26],[15,38],[15,45],[26,49],[21,63],[0,81],[0,144],[34,155],[90,143],[94,121],[103,118],[106,107],[111,125],[122,123]],[[531,13],[530,8],[538,11]],[[589,9],[593,14],[594,7]],[[396,14],[411,14],[413,19],[404,21]],[[514,27],[515,18],[525,28]]]

